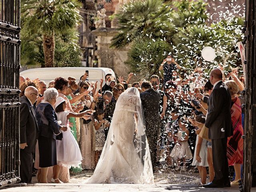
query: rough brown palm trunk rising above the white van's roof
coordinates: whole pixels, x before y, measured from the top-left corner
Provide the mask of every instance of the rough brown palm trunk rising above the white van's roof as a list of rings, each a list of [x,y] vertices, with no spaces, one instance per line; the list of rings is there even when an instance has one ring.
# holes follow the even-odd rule
[[[52,36],[44,35],[43,37],[44,63],[45,67],[54,67],[54,34]]]

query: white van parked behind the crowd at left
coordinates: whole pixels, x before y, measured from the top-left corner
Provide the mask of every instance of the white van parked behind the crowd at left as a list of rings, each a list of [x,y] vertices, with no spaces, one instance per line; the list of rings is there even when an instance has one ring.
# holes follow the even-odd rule
[[[51,80],[54,80],[56,77],[64,77],[68,79],[68,77],[74,77],[76,78],[76,82],[78,83],[80,80],[80,77],[84,75],[85,71],[89,71],[89,81],[90,82],[96,82],[98,81],[98,88],[100,87],[100,79],[103,79],[105,82],[105,75],[106,74],[112,74],[112,76],[115,76],[115,73],[110,68],[93,68],[93,67],[52,67],[52,68],[34,68],[34,69],[28,69],[25,71],[20,72],[21,76],[24,76],[25,78],[30,79],[36,79],[44,80],[46,82],[46,85],[48,86],[48,83]],[[103,83],[104,85],[104,83]]]

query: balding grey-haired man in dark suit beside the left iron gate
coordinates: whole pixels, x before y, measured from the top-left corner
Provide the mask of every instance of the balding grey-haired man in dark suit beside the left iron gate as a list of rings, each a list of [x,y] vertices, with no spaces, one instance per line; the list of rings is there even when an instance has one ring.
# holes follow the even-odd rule
[[[21,183],[31,183],[33,157],[38,138],[38,124],[34,102],[38,98],[38,90],[33,86],[25,89],[20,98],[20,178]]]

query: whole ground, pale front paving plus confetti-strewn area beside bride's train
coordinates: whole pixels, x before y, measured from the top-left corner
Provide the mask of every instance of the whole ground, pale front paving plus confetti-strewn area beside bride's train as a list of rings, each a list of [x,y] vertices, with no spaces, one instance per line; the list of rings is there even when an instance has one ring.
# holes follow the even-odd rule
[[[159,168],[155,176],[155,184],[84,184],[92,176],[93,170],[83,170],[79,174],[72,174],[69,183],[64,184],[38,184],[36,177],[32,178],[33,184],[21,186],[14,184],[2,188],[1,192],[239,192],[238,186],[231,188],[200,188],[199,174],[194,169],[175,171],[170,168]],[[208,182],[208,179],[207,179]],[[252,188],[251,192],[256,192]]]

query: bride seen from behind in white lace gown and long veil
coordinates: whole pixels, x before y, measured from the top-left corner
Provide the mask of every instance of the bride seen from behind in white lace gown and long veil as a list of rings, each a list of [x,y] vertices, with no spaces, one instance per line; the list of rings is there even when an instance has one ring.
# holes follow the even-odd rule
[[[118,98],[100,160],[86,183],[154,183],[137,88],[128,88]]]

